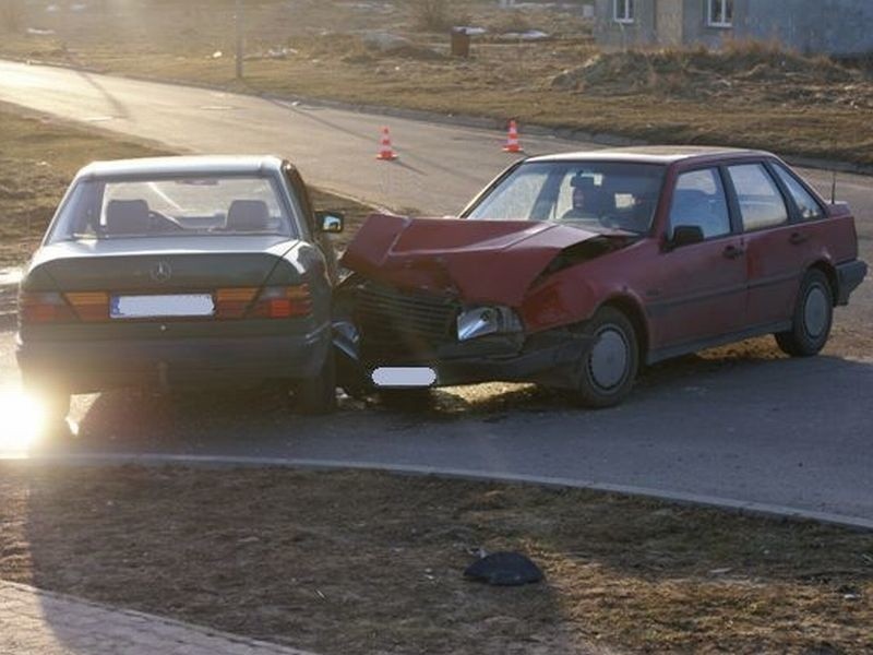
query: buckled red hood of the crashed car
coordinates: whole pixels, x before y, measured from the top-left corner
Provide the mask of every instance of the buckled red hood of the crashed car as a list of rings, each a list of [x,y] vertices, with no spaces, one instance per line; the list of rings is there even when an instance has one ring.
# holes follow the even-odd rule
[[[602,236],[530,221],[376,214],[360,228],[342,263],[364,277],[398,287],[517,307],[562,250]]]

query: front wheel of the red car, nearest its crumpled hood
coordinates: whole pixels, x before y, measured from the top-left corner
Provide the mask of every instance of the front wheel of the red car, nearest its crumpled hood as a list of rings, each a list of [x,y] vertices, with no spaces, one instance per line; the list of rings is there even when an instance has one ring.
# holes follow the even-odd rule
[[[583,333],[594,343],[579,367],[579,402],[595,409],[613,407],[627,397],[636,380],[636,331],[623,312],[603,307],[584,325]]]

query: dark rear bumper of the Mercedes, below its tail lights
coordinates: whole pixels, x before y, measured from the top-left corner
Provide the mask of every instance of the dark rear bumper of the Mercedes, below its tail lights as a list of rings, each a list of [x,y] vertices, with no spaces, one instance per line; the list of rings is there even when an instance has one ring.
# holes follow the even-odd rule
[[[15,355],[25,382],[71,393],[123,386],[236,384],[303,380],[321,370],[331,330],[309,334],[176,340],[27,341]]]

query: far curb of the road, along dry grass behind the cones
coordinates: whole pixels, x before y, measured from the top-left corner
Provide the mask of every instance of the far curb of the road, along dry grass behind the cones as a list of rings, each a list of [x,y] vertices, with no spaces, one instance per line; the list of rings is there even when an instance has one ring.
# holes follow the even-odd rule
[[[409,120],[420,120],[431,123],[483,129],[483,130],[505,130],[506,120],[502,118],[493,118],[486,116],[469,116],[469,115],[453,115],[440,114],[438,111],[430,111],[426,109],[407,109],[400,107],[388,107],[385,105],[369,105],[358,103],[347,103],[343,100],[331,100],[326,98],[314,98],[309,96],[301,96],[295,94],[274,94],[270,92],[259,91],[234,91],[226,86],[205,84],[184,80],[165,79],[159,80],[155,78],[147,78],[144,75],[130,75],[124,73],[107,73],[99,69],[85,66],[70,66],[55,61],[41,61],[36,59],[27,59],[24,57],[0,57],[0,61],[11,61],[15,63],[25,63],[28,66],[41,66],[47,68],[57,68],[72,71],[81,71],[86,73],[94,73],[97,75],[106,75],[110,78],[120,78],[122,80],[133,80],[136,82],[151,82],[155,84],[168,84],[172,86],[187,86],[190,88],[203,88],[210,91],[220,91],[224,93],[242,95],[249,97],[260,97],[265,100],[274,102],[298,102],[312,107],[324,107],[328,109],[342,109],[345,111],[356,111],[359,114],[373,114],[379,116],[390,116],[394,118],[403,118]],[[525,123],[525,133],[536,136],[553,136],[555,139],[563,139],[566,141],[581,141],[595,143],[597,145],[621,147],[621,146],[635,146],[635,145],[658,145],[656,142],[636,139],[632,136],[624,136],[622,134],[602,133],[602,132],[588,132],[576,128],[561,128],[549,127],[537,123]],[[681,144],[674,144],[681,145]],[[691,145],[691,144],[687,144]],[[766,148],[764,148],[766,150]],[[815,168],[820,170],[835,170],[837,172],[851,172],[856,175],[873,176],[873,165],[870,164],[856,164],[852,162],[845,162],[841,159],[827,159],[818,157],[810,157],[805,155],[792,155],[784,153],[779,155],[782,159],[792,166],[800,166],[803,168]]]

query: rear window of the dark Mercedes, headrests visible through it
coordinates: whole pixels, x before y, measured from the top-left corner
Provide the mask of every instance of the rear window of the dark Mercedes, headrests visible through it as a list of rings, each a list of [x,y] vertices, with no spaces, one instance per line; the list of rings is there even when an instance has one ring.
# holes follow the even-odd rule
[[[48,242],[175,236],[292,236],[300,210],[261,176],[83,180]]]

